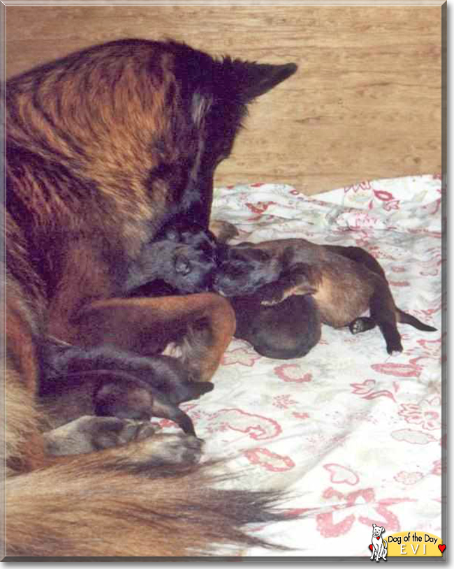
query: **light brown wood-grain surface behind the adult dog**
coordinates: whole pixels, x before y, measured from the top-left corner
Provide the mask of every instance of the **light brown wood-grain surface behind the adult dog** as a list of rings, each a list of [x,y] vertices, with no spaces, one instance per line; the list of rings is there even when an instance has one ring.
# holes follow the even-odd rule
[[[251,106],[217,185],[312,194],[441,170],[440,6],[7,6],[6,73],[124,37],[298,64]]]

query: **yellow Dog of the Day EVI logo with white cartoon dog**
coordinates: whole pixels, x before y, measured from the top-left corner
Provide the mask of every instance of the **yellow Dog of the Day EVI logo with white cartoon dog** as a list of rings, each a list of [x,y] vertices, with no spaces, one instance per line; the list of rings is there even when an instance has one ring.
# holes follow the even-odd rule
[[[438,535],[424,531],[401,531],[383,539],[385,529],[372,524],[371,561],[387,560],[387,557],[441,557],[446,549]]]

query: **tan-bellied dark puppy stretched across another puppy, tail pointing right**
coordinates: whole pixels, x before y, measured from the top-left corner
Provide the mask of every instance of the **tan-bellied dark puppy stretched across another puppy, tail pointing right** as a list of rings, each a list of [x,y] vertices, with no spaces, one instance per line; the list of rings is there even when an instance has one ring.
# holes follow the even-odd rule
[[[349,252],[344,255],[340,249],[306,239],[224,245],[214,290],[227,297],[254,295],[266,306],[312,295],[322,323],[349,326],[353,334],[378,325],[390,354],[403,349],[397,322],[436,330],[395,306],[383,269],[372,256],[363,251],[357,260],[351,249],[358,248],[345,248]],[[370,317],[360,318],[367,309]]]

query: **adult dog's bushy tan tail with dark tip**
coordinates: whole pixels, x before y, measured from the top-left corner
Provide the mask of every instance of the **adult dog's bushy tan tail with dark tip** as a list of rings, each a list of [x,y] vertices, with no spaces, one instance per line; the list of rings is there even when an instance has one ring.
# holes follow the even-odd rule
[[[118,452],[79,455],[10,478],[6,559],[238,555],[270,547],[247,533],[247,524],[287,517],[274,510],[274,492],[217,488],[213,466],[151,468]]]

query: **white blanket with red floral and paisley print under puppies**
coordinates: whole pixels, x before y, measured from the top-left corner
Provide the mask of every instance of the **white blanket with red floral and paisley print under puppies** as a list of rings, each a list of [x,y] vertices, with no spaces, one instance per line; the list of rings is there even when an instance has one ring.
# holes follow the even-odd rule
[[[400,325],[404,351],[392,356],[378,328],[353,336],[323,326],[307,356],[286,361],[261,357],[245,341],[230,344],[214,390],[182,408],[207,441],[207,457],[227,455],[228,468],[245,473],[235,485],[286,489],[282,507],[301,514],[254,528],[293,550],[240,553],[367,556],[372,524],[386,535],[441,537],[440,177],[312,197],[279,184],[228,186],[215,192],[212,219],[237,226],[237,241],[304,237],[363,247],[385,269],[397,306],[437,327]]]

